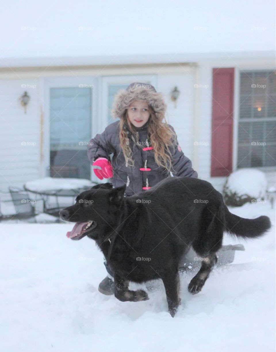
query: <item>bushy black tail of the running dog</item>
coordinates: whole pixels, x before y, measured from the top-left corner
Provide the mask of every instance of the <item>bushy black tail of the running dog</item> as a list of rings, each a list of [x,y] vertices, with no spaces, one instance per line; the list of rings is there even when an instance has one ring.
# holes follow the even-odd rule
[[[259,216],[256,219],[245,219],[229,212],[224,204],[224,230],[238,238],[257,238],[263,236],[270,228],[268,216]]]

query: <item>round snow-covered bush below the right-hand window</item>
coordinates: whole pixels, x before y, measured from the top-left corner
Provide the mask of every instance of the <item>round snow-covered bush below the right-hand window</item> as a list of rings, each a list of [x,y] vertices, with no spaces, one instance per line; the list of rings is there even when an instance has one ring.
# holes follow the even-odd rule
[[[223,186],[223,199],[226,205],[240,207],[244,203],[264,200],[267,192],[267,178],[264,172],[244,168],[232,172]]]

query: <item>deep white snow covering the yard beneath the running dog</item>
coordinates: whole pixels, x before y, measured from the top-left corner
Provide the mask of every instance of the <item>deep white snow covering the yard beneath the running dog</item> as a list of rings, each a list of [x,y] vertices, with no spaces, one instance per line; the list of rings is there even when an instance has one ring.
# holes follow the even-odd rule
[[[268,203],[230,211],[275,225]],[[216,268],[201,293],[187,290],[195,272],[183,274],[175,318],[162,285],[145,302],[100,294],[103,255],[88,238],[66,238],[71,229],[0,224],[0,351],[275,351],[275,227],[250,241],[225,236],[245,246],[234,263],[248,264]]]

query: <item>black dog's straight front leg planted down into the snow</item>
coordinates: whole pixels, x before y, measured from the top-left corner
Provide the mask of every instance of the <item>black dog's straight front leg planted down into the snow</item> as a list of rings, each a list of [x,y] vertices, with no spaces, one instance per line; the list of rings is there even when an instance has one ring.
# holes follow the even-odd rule
[[[167,271],[161,277],[165,286],[169,313],[172,317],[174,317],[177,311],[177,307],[181,302],[179,297],[180,281],[178,270],[173,272]]]

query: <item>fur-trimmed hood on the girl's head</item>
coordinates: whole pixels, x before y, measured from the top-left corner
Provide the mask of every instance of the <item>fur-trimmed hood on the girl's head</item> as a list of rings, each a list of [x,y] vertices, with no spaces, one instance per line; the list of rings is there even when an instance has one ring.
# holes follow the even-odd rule
[[[134,100],[146,101],[155,112],[156,117],[162,121],[165,117],[167,105],[163,94],[156,92],[156,89],[149,83],[131,83],[126,90],[120,89],[114,96],[111,114],[114,119],[122,118]]]

